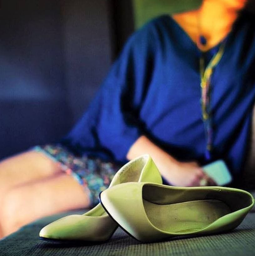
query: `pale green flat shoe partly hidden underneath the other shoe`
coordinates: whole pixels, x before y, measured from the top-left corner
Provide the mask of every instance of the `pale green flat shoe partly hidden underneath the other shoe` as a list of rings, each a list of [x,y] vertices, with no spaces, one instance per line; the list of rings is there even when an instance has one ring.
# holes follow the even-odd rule
[[[114,175],[109,187],[123,182],[149,181],[162,184],[158,168],[149,155],[142,155],[122,166]],[[83,215],[69,215],[41,229],[40,239],[51,242],[106,241],[118,225],[99,203]]]

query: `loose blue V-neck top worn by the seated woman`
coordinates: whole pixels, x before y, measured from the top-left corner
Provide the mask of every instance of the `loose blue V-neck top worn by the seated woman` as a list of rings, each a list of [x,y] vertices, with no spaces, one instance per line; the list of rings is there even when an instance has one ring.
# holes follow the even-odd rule
[[[211,77],[212,160],[234,177],[247,155],[255,99],[255,22],[241,15]],[[219,45],[206,53],[209,59]],[[135,32],[96,97],[61,143],[79,154],[126,162],[142,134],[179,160],[206,164],[199,50],[168,15]],[[207,61],[207,62],[208,62]]]

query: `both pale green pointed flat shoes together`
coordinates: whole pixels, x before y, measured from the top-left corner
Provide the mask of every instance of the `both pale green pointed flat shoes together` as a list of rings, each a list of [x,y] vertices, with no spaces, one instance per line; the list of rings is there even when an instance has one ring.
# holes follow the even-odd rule
[[[252,195],[239,189],[162,185],[149,155],[124,165],[99,199],[89,212],[45,226],[40,238],[106,241],[118,225],[141,242],[225,232],[237,227],[254,205]]]

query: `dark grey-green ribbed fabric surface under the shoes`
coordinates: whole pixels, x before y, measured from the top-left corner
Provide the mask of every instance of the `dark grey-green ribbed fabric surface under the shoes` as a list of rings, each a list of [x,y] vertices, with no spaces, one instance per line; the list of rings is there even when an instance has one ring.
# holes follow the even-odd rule
[[[81,214],[84,211],[75,213]],[[68,214],[73,214],[69,212]],[[46,217],[24,226],[0,241],[0,256],[254,256],[255,211],[232,232],[190,238],[171,239],[160,243],[140,243],[120,228],[105,243],[52,244],[39,240],[40,229],[62,215]]]

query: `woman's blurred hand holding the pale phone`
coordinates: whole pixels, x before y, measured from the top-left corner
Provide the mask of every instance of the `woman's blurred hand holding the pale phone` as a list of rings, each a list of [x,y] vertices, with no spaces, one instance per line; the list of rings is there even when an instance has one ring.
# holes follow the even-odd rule
[[[203,169],[195,162],[165,161],[164,178],[174,186],[213,186],[215,181],[211,179]],[[168,171],[167,171],[168,169]]]

